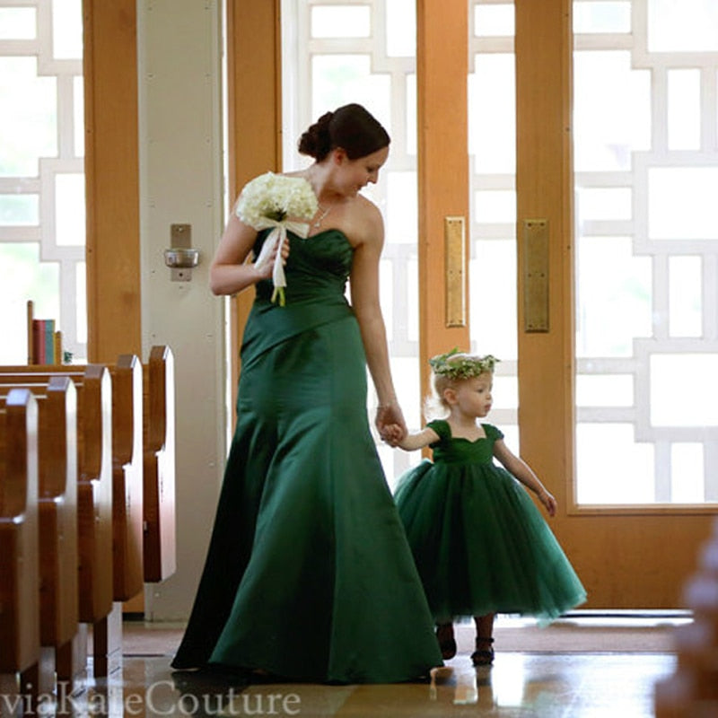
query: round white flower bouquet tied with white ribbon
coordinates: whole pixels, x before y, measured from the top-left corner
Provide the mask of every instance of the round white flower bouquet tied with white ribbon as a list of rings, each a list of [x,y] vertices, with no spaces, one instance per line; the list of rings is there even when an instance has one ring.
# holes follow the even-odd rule
[[[276,247],[272,269],[275,285],[272,302],[278,300],[280,306],[285,305],[286,277],[282,246],[286,241],[286,232],[291,230],[300,237],[306,237],[309,234],[309,220],[317,213],[318,207],[317,197],[307,180],[274,172],[266,172],[250,180],[237,200],[234,212],[243,223],[258,232],[272,228],[255,264],[261,267],[267,263]]]

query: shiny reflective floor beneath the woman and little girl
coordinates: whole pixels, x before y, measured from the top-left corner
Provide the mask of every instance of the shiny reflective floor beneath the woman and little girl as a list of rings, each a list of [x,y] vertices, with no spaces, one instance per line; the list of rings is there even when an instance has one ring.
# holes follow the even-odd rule
[[[671,633],[689,617],[569,617],[539,629],[497,622],[490,668],[469,660],[471,626],[458,626],[459,653],[430,682],[381,686],[274,684],[208,677],[170,668],[181,627],[128,625],[121,667],[57,696],[46,715],[296,715],[425,718],[643,718],[653,686],[675,668]],[[523,638],[521,638],[523,636]],[[521,643],[529,650],[517,650]]]

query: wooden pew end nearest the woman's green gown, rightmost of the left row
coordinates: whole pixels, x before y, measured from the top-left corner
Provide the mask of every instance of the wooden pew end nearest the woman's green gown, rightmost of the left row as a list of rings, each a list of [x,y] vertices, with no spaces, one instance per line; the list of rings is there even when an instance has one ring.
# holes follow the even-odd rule
[[[174,574],[175,409],[174,355],[153,346],[144,365],[144,581]]]

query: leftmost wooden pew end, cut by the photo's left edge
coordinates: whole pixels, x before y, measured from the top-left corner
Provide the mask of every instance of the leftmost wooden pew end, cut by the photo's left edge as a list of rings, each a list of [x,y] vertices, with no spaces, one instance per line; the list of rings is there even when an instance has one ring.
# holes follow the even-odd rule
[[[13,390],[0,401],[0,691],[26,713],[39,686],[37,506],[38,408]]]

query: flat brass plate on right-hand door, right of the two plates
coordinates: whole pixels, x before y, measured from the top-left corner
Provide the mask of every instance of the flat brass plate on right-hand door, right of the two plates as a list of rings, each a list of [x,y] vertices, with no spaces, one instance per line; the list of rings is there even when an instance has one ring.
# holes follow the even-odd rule
[[[548,331],[548,220],[523,221],[523,328]]]

